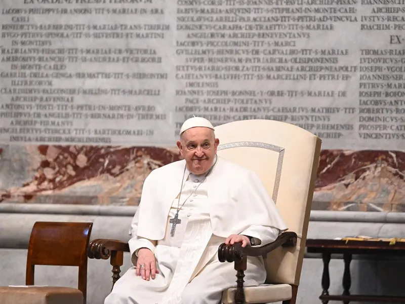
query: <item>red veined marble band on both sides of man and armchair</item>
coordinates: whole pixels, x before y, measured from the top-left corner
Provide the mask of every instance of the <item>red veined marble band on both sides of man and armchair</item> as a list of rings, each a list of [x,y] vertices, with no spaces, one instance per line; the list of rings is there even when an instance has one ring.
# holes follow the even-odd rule
[[[151,170],[177,148],[0,145],[0,202],[138,205]],[[405,153],[322,150],[313,210],[404,210]]]

